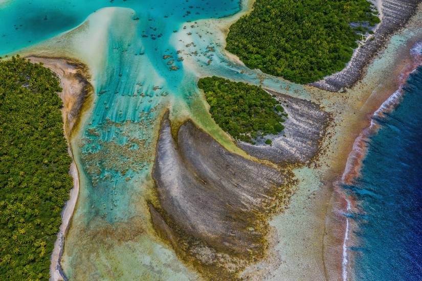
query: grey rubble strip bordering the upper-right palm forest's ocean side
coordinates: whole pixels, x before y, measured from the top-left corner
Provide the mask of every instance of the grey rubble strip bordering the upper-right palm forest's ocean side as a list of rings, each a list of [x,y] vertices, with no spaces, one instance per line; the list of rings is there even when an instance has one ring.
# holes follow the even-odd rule
[[[363,77],[371,59],[384,48],[390,36],[403,28],[416,13],[417,6],[421,2],[421,0],[381,0],[381,7],[379,7],[382,14],[381,24],[376,28],[373,36],[356,50],[346,68],[341,72],[310,85],[329,91],[339,91],[353,86]]]

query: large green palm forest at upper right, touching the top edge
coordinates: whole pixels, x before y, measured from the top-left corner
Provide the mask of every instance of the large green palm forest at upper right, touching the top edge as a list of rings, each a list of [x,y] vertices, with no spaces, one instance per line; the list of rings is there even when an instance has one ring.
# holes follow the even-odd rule
[[[309,83],[341,71],[380,19],[367,0],[256,0],[230,27],[226,49],[250,68]]]

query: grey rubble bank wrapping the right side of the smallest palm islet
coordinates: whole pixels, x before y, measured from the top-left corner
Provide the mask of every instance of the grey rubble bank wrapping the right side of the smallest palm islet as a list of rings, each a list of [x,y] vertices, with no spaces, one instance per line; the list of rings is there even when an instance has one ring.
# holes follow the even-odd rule
[[[308,164],[317,156],[321,140],[326,134],[330,114],[319,105],[303,99],[267,89],[281,101],[288,118],[285,129],[273,139],[273,144],[252,145],[239,142],[238,147],[250,155],[274,163]]]

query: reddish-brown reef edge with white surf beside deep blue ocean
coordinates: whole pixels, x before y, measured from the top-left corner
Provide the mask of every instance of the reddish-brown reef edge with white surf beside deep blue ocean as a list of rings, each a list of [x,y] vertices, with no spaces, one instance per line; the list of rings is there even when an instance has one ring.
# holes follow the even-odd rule
[[[415,52],[417,46],[420,50],[420,44],[417,42],[422,38],[422,33],[419,32],[420,8],[422,7],[419,6],[417,17],[409,21],[406,29],[396,33],[403,41],[397,45],[394,41],[390,41],[385,54],[377,56],[371,62],[372,66],[382,65],[379,67],[381,71],[374,72],[372,68],[362,81],[347,92],[348,95],[360,97],[356,100],[358,105],[356,115],[360,116],[360,121],[356,118],[346,119],[354,125],[349,124],[350,132],[342,137],[344,140],[341,142],[346,143],[347,139],[348,145],[347,148],[344,146],[341,148],[346,154],[343,154],[341,161],[338,162],[344,164],[339,166],[342,168],[341,172],[336,172],[337,175],[333,175],[329,180],[332,194],[325,218],[324,235],[324,259],[328,279],[353,279],[352,269],[356,252],[350,248],[357,245],[357,238],[353,233],[358,226],[348,214],[357,211],[357,202],[353,196],[345,193],[344,185],[353,184],[354,179],[359,176],[362,160],[367,152],[368,139],[379,128],[374,119],[390,112],[401,102],[401,87],[409,73],[422,62],[419,52]],[[346,121],[342,121],[340,127]]]

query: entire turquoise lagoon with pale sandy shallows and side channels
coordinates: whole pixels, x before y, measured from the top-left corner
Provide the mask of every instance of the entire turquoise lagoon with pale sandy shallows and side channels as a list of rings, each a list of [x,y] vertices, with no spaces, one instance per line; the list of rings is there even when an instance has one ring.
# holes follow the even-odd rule
[[[151,227],[147,201],[160,116],[192,118],[231,150],[196,87],[217,75],[308,97],[302,86],[231,62],[233,0],[0,2],[0,55],[62,56],[84,62],[95,88],[72,137],[80,193],[62,267],[71,279],[192,279]],[[175,70],[172,70],[172,67]],[[242,153],[238,151],[239,153]]]

